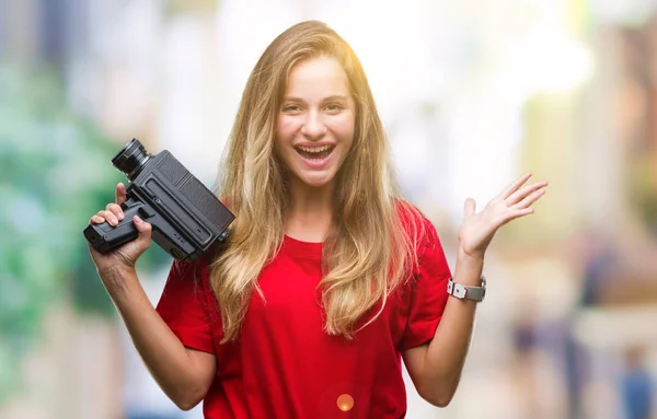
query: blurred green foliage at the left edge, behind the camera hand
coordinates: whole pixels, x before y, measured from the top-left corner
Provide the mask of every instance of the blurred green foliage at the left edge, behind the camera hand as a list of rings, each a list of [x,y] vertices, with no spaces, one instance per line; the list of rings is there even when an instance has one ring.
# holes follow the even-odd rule
[[[20,389],[49,307],[114,315],[82,230],[126,182],[111,164],[118,150],[67,107],[55,71],[0,65],[0,403]],[[140,268],[168,259],[153,246]]]

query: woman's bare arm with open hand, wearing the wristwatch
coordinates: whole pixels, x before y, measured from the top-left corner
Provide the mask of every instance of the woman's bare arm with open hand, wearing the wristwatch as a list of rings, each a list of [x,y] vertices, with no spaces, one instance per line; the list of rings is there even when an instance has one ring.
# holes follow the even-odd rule
[[[543,196],[548,183],[522,187],[530,176],[525,174],[514,182],[479,213],[472,199],[465,201],[454,282],[480,287],[484,254],[496,231],[514,219],[533,213],[530,206]],[[433,405],[447,406],[457,391],[470,347],[475,306],[474,301],[450,296],[434,338],[403,354],[418,394]]]

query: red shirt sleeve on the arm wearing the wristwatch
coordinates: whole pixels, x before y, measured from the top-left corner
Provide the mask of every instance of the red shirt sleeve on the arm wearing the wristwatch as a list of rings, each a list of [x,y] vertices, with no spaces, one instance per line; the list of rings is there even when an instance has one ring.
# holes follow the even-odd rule
[[[411,349],[434,338],[447,305],[447,282],[451,271],[436,228],[427,219],[418,246],[420,257],[411,279],[408,318],[402,350]]]

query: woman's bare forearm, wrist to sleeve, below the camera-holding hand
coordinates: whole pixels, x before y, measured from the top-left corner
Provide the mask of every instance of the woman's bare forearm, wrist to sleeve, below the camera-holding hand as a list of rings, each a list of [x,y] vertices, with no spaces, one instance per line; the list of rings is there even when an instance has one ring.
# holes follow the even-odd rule
[[[134,269],[112,267],[99,273],[153,379],[177,407],[192,409],[212,383],[216,357],[183,346],[153,309]]]

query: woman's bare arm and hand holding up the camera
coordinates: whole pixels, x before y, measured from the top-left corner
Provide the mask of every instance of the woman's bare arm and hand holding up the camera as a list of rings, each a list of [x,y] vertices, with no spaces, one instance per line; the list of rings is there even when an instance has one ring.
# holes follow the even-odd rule
[[[123,184],[116,186],[116,203],[108,203],[90,220],[116,225],[123,220],[120,203],[126,200]],[[151,225],[134,218],[139,236],[117,249],[101,254],[89,252],[99,276],[120,314],[135,347],[162,391],[181,409],[188,410],[206,395],[217,369],[211,353],[187,349],[164,323],[139,283],[135,263],[150,246]]]

